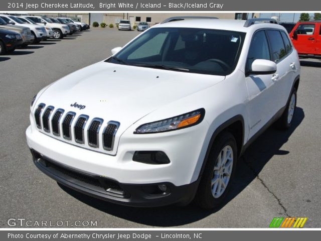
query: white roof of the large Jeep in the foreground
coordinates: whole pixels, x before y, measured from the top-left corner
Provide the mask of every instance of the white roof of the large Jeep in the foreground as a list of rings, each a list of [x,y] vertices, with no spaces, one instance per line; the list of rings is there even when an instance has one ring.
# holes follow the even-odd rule
[[[249,27],[244,27],[245,20],[231,19],[186,19],[154,25],[153,28],[199,28],[199,29],[216,29],[229,30],[237,32],[252,32],[262,28],[273,28],[284,30],[284,27],[271,23],[255,23]]]

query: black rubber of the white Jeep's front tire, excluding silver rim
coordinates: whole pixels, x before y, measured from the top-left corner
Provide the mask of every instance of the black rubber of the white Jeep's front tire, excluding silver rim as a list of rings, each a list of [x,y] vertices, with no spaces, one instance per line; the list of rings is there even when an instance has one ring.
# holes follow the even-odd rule
[[[222,175],[223,178],[227,178],[224,174],[220,174],[220,171],[214,172],[214,167],[219,164],[218,157],[222,155],[224,152],[223,149],[227,148],[230,152],[232,152],[232,160],[233,163],[230,164],[232,166],[232,170],[230,173],[230,178],[227,181],[227,185],[224,190],[222,190],[222,194],[217,197],[214,195],[218,195],[216,192],[212,194],[212,179],[214,175],[220,176]],[[202,175],[197,193],[195,195],[195,203],[200,206],[201,208],[205,209],[213,209],[218,207],[224,201],[228,190],[230,189],[231,183],[233,181],[235,168],[237,162],[237,145],[234,136],[229,132],[223,132],[220,134],[213,143],[212,150],[208,157],[204,173]],[[228,162],[226,162],[228,163]],[[225,168],[220,168],[221,171],[224,171]],[[220,178],[218,178],[220,179]],[[221,179],[222,180],[222,179]],[[219,183],[219,182],[218,182]],[[217,184],[219,187],[220,184]],[[215,184],[213,184],[215,187]]]

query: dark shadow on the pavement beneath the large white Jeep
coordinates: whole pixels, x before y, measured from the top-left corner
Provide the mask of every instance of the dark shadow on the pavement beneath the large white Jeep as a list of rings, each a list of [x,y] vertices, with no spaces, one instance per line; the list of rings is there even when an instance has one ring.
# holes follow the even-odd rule
[[[289,130],[279,131],[272,125],[246,150],[238,161],[237,172],[226,201],[221,207],[218,207],[215,210],[203,210],[193,203],[186,207],[178,207],[175,205],[153,208],[127,207],[92,198],[61,184],[58,185],[65,192],[87,205],[132,222],[161,227],[193,223],[219,211],[229,201],[236,197],[257,177],[265,164],[274,155],[287,155],[289,153],[280,148],[288,141],[289,137],[304,118],[302,108],[297,107],[295,111],[295,118],[293,119],[292,127]]]

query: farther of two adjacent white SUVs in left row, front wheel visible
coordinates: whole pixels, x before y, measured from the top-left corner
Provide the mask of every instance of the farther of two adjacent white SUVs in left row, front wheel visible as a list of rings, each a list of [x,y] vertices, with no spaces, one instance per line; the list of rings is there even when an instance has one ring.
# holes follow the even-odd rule
[[[53,38],[54,39],[62,39],[69,35],[70,30],[69,27],[65,24],[57,24],[53,23],[50,19],[41,16],[24,16],[24,18],[31,19],[37,24],[43,24],[48,26],[53,30]]]

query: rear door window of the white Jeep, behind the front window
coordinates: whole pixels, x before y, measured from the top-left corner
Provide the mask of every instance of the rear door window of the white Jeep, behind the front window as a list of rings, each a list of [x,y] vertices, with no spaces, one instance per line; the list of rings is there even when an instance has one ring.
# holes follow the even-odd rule
[[[271,44],[272,60],[277,62],[286,55],[281,33],[278,30],[267,30],[266,33]]]

